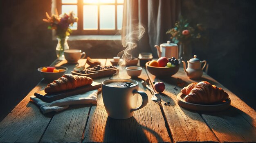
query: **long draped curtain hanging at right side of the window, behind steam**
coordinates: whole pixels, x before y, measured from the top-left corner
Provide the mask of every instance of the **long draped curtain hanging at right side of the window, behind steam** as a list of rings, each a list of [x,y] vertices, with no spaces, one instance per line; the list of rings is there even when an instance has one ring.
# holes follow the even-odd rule
[[[122,43],[130,36],[137,47],[130,50],[130,54],[138,57],[140,52],[151,52],[157,58],[157,50],[154,45],[167,43],[171,35],[166,35],[166,31],[174,27],[180,16],[179,0],[125,0],[123,28],[121,30]],[[137,26],[143,26],[137,27]],[[144,31],[143,37],[138,34]],[[141,36],[141,35],[139,35]],[[139,39],[139,40],[138,40]],[[127,47],[127,45],[124,45]]]

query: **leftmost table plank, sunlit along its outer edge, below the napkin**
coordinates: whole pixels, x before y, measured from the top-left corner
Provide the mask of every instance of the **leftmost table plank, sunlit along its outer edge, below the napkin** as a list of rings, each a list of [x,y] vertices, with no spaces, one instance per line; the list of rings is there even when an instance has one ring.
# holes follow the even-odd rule
[[[42,90],[41,81],[0,123],[0,142],[37,143],[40,141],[53,113],[43,115],[30,96]]]

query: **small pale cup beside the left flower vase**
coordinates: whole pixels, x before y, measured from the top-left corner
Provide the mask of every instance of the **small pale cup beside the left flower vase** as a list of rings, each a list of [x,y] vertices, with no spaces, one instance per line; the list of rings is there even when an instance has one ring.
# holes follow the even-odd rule
[[[64,56],[68,63],[77,63],[77,61],[80,58],[85,57],[85,52],[82,52],[82,53],[81,52],[82,52],[81,50],[74,50],[74,49],[65,50]]]

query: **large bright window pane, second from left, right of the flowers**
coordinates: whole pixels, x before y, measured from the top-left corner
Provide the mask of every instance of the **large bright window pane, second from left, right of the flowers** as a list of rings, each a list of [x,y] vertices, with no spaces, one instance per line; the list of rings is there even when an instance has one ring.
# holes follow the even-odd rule
[[[83,6],[83,29],[98,29],[98,6]]]

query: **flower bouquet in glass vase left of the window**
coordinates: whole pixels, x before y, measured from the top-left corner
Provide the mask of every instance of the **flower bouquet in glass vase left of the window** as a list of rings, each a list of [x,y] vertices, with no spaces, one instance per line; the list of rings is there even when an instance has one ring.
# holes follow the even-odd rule
[[[46,12],[47,19],[43,19],[44,22],[49,23],[48,29],[55,30],[56,36],[58,39],[58,44],[56,47],[56,55],[59,60],[64,59],[64,50],[69,49],[67,45],[67,39],[72,30],[70,29],[73,26],[74,22],[78,21],[78,17],[75,17],[73,11],[70,13],[64,13],[58,15],[58,11],[55,10],[56,14],[53,14],[52,17]]]

